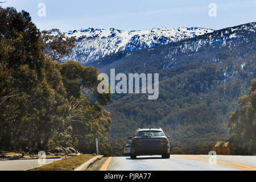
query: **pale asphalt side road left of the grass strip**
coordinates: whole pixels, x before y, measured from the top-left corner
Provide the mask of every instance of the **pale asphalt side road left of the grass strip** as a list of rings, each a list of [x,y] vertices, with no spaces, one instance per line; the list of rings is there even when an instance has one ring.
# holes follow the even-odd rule
[[[46,159],[46,164],[55,160],[60,159]],[[38,159],[0,160],[0,171],[25,171],[38,166],[42,166],[38,164]]]

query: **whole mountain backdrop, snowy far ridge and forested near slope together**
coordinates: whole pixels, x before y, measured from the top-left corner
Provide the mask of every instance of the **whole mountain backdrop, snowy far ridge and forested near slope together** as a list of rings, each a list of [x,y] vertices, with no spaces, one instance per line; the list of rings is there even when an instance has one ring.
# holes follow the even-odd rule
[[[256,23],[222,30],[154,28],[120,31],[88,28],[69,31],[76,48],[68,59],[108,73],[159,73],[159,98],[113,94],[105,106],[117,155],[138,127],[162,127],[178,151],[208,154],[216,140],[229,137],[228,120],[238,97],[255,75]]]

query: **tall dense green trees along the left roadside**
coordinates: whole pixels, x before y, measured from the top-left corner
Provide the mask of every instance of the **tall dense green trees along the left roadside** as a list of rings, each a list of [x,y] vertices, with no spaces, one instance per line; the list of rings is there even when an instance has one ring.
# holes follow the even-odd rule
[[[110,113],[102,108],[111,94],[98,94],[98,69],[59,63],[73,40],[49,34],[26,11],[0,7],[0,150],[74,147],[93,153],[98,138],[100,153],[111,155]]]

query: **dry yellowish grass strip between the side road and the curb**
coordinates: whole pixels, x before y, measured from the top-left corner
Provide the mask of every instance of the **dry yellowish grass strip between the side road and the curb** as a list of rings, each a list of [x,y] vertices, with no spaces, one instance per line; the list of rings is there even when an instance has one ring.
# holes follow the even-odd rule
[[[73,171],[81,164],[94,158],[96,155],[93,154],[82,154],[72,156],[71,158],[56,160],[50,164],[45,164],[40,167],[29,169],[29,171]]]

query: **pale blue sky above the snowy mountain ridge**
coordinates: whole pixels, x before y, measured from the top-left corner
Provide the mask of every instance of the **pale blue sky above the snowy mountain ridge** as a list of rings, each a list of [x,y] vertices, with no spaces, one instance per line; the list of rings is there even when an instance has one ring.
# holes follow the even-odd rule
[[[80,28],[146,30],[154,27],[204,27],[214,30],[256,22],[255,0],[5,0],[3,7],[26,10],[41,30]],[[46,17],[38,16],[38,4],[46,4]],[[216,3],[217,16],[208,15]]]

